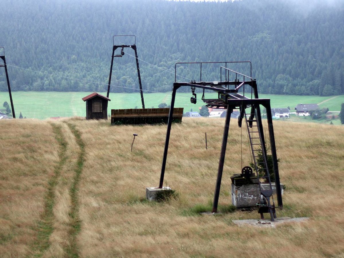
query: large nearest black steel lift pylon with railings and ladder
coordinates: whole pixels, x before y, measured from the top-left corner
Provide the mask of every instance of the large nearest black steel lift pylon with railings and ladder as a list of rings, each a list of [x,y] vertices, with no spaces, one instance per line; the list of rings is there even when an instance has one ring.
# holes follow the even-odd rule
[[[267,112],[267,120],[268,120],[268,129],[269,129],[269,138],[270,138],[270,148],[271,148],[271,156],[273,160],[273,170],[275,172],[275,180],[276,180],[276,193],[277,193],[277,202],[280,208],[283,207],[282,203],[282,195],[281,195],[281,187],[280,187],[280,179],[279,179],[279,171],[278,171],[278,163],[277,163],[277,154],[276,154],[276,145],[275,145],[275,136],[273,133],[273,126],[272,126],[272,116],[271,116],[271,107],[270,107],[270,99],[259,99],[258,98],[258,89],[257,83],[255,79],[252,79],[252,76],[247,76],[236,71],[233,71],[227,66],[231,63],[247,63],[250,65],[251,62],[244,61],[244,62],[196,62],[196,63],[176,63],[175,64],[175,82],[173,83],[173,91],[172,91],[172,99],[171,99],[171,108],[169,113],[169,120],[167,125],[167,132],[166,132],[166,141],[165,141],[165,148],[162,160],[162,167],[161,167],[161,174],[160,174],[160,182],[159,188],[162,188],[163,181],[164,181],[164,174],[165,174],[165,166],[167,160],[167,153],[169,147],[169,140],[170,140],[170,133],[171,133],[171,125],[172,125],[172,116],[173,116],[173,107],[174,101],[176,96],[176,91],[181,86],[189,86],[191,87],[192,93],[195,96],[194,90],[195,88],[203,89],[202,100],[207,104],[207,107],[213,108],[227,108],[227,115],[226,121],[224,126],[223,132],[223,139],[222,139],[222,147],[220,153],[220,159],[218,164],[218,171],[217,171],[217,180],[215,185],[215,193],[214,193],[214,201],[213,201],[213,209],[212,212],[217,212],[217,205],[218,205],[218,198],[220,193],[221,187],[221,180],[223,174],[223,166],[225,161],[225,154],[226,154],[226,146],[227,146],[227,139],[228,139],[228,129],[229,129],[229,122],[230,122],[230,115],[233,112],[233,109],[240,110],[240,116],[238,119],[238,126],[241,127],[242,121],[245,118],[245,122],[247,124],[247,130],[249,134],[250,146],[253,156],[253,161],[257,171],[257,179],[259,184],[260,190],[260,203],[258,204],[258,212],[261,214],[261,217],[264,218],[264,213],[269,213],[271,216],[271,221],[274,221],[276,218],[275,213],[275,205],[271,204],[270,197],[272,196],[272,186],[271,186],[271,179],[270,173],[267,165],[267,153],[266,153],[266,146],[265,146],[265,137],[264,131],[262,127],[261,121],[261,114],[260,114],[260,106],[262,105],[266,108]],[[200,80],[191,80],[190,82],[177,82],[176,81],[176,69],[177,66],[180,64],[200,64]],[[202,81],[202,64],[219,64],[220,65],[220,73],[221,73],[221,80],[220,82],[203,82]],[[224,66],[223,66],[224,65]],[[252,70],[251,70],[252,71]],[[225,74],[223,79],[223,73]],[[230,75],[235,75],[234,80],[229,80]],[[239,80],[239,78],[242,78]],[[251,87],[251,95],[254,94],[254,98],[248,98],[245,96],[245,85]],[[239,90],[243,88],[244,94],[239,94]],[[217,99],[205,99],[204,92],[205,90],[212,90],[218,93]],[[191,97],[191,102],[195,103],[195,98]],[[246,109],[250,108],[250,113],[246,114]],[[263,164],[258,168],[258,161],[259,158],[258,152],[261,152],[263,155]],[[264,169],[261,169],[263,167]],[[264,176],[259,176],[258,171],[264,170]],[[260,179],[264,179],[267,183],[269,183],[269,189],[263,189],[261,186]]]

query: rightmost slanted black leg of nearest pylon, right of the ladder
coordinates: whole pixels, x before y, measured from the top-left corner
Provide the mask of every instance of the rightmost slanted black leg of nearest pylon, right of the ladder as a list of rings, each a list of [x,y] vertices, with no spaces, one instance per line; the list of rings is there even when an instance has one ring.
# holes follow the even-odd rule
[[[279,179],[279,172],[278,172],[278,163],[277,163],[277,153],[276,153],[276,144],[275,144],[275,135],[273,133],[273,126],[272,126],[272,116],[271,116],[271,107],[269,104],[264,105],[266,108],[266,116],[268,118],[268,127],[269,127],[269,136],[270,136],[270,147],[271,147],[271,155],[273,161],[273,169],[275,171],[275,183],[276,183],[276,194],[277,194],[277,205],[280,208],[283,208],[282,202],[282,193],[281,193],[281,184]]]

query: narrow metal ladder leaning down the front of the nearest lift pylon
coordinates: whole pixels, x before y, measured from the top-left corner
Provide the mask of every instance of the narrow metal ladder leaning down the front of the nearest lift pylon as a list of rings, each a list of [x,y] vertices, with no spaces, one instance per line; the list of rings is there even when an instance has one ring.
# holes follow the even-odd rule
[[[271,185],[271,178],[268,168],[267,162],[267,153],[265,148],[264,142],[264,135],[262,132],[261,126],[261,116],[260,116],[260,108],[259,106],[252,105],[250,114],[246,114],[244,111],[244,117],[246,121],[246,128],[248,132],[248,138],[251,146],[252,151],[252,158],[255,164],[256,172],[257,172],[257,179],[258,185],[260,190],[260,198],[258,205],[258,213],[260,213],[261,218],[264,218],[263,213],[270,213],[271,221],[274,221],[276,218],[276,211],[275,211],[275,204],[271,205],[270,197],[272,196],[272,185]],[[249,115],[249,118],[247,118]],[[259,155],[261,154],[261,155]],[[262,158],[262,159],[261,159]],[[259,162],[257,160],[262,160]],[[260,168],[258,168],[260,165]],[[263,176],[259,176],[259,171],[264,172]],[[264,179],[269,184],[269,189],[264,189],[261,185],[260,179]],[[261,198],[262,197],[262,198]]]

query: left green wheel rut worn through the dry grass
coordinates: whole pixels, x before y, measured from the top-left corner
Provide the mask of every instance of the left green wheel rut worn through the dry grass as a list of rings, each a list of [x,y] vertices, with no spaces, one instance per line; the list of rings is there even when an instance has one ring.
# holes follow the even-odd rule
[[[58,151],[58,157],[60,160],[54,170],[52,178],[48,182],[48,192],[44,198],[44,211],[41,215],[41,221],[38,223],[37,241],[33,247],[36,257],[41,257],[43,252],[50,247],[49,238],[54,230],[53,208],[55,205],[55,187],[61,175],[63,165],[67,160],[66,151],[68,143],[63,137],[61,126],[57,126],[54,123],[51,123],[51,126],[53,128],[55,139],[60,145],[60,150]]]

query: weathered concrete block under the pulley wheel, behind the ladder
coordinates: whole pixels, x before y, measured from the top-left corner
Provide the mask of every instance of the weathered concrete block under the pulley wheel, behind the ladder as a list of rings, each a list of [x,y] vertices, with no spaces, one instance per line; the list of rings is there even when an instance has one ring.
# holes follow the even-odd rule
[[[261,184],[263,189],[270,189],[269,184]],[[276,184],[272,183],[273,194],[276,194]],[[283,195],[283,184],[281,184],[281,193]],[[259,185],[245,184],[236,186],[232,184],[232,204],[236,207],[254,207],[259,202]]]

